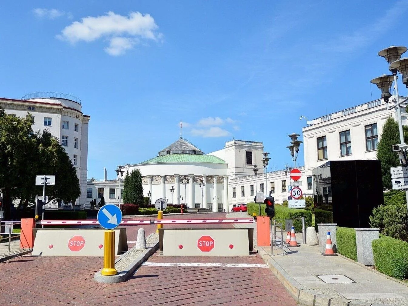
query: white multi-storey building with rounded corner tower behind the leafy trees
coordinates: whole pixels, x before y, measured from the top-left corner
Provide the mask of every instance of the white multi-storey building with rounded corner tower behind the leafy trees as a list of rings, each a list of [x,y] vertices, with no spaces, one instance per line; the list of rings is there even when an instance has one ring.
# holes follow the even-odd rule
[[[9,115],[31,115],[33,131],[48,129],[57,137],[72,160],[80,180],[81,195],[76,204],[86,203],[88,176],[88,124],[91,119],[81,111],[81,100],[63,93],[30,93],[20,100],[0,98]],[[38,175],[47,173],[38,173]]]

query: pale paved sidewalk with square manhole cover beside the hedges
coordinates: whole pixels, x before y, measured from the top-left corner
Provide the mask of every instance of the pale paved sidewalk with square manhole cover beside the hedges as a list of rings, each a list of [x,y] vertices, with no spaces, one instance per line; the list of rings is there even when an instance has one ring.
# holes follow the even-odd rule
[[[228,214],[227,217],[246,217]],[[395,305],[408,306],[408,286],[346,259],[342,256],[323,256],[318,246],[301,244],[291,248],[293,253],[280,255],[280,249],[258,247],[256,242],[256,223],[253,225],[235,224],[237,227],[254,227],[254,246],[259,255],[270,266],[286,289],[305,305]],[[285,235],[285,233],[284,233]],[[285,237],[286,238],[286,237]],[[297,235],[298,243],[302,241]],[[278,254],[278,255],[277,255]],[[326,283],[317,275],[340,275],[328,277],[328,281],[340,281],[345,275],[349,283]],[[347,280],[347,279],[346,279]],[[331,304],[329,304],[331,303]],[[337,303],[337,304],[335,304]]]

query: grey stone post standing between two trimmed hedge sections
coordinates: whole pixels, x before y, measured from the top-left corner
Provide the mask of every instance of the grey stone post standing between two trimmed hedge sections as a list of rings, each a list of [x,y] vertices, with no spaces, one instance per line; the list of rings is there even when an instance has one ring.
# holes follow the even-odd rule
[[[355,228],[357,244],[357,262],[365,266],[374,266],[372,242],[379,239],[379,228]]]

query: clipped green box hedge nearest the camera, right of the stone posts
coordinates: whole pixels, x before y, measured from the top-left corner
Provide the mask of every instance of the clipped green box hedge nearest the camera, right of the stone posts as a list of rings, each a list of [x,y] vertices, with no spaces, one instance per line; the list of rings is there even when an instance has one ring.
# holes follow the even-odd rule
[[[373,240],[373,253],[378,271],[397,279],[408,278],[408,242],[382,236]]]

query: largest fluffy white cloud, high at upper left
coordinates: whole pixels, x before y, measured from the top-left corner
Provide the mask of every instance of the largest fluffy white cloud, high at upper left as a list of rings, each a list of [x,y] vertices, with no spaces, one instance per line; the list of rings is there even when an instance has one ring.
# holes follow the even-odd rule
[[[88,16],[74,21],[56,37],[71,43],[106,38],[109,47],[104,50],[110,55],[121,55],[132,49],[140,39],[160,41],[163,35],[157,29],[155,20],[149,14],[131,12],[129,16],[122,16],[109,11],[103,16]]]

